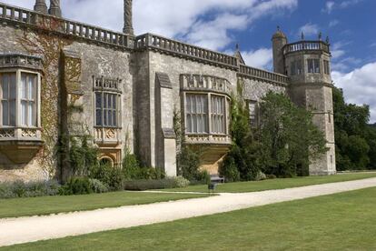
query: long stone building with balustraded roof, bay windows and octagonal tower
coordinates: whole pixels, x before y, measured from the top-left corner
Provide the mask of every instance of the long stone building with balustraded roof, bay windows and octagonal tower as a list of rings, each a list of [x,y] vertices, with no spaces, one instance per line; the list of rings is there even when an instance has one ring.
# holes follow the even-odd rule
[[[272,36],[274,73],[235,55],[160,35],[134,35],[132,0],[123,33],[62,17],[60,1],[35,10],[0,3],[0,181],[70,175],[66,138],[90,135],[102,161],[120,164],[125,149],[176,175],[173,116],[185,141],[202,146],[203,168],[217,173],[230,144],[231,94],[243,83],[250,121],[268,91],[290,95],[314,114],[328,153],[312,175],[335,173],[329,44],[288,44]]]

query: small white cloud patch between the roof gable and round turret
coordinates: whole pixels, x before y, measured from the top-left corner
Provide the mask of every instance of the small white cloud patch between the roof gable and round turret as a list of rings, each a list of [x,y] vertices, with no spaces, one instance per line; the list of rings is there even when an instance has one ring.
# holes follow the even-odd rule
[[[253,51],[243,51],[242,58],[246,65],[272,70],[272,49],[260,48]]]

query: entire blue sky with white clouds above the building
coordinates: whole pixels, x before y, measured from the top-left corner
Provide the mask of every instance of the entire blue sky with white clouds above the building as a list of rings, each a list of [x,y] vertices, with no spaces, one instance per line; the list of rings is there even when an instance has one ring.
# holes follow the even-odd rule
[[[35,0],[0,0],[32,8]],[[47,0],[47,2],[49,2]],[[123,0],[61,0],[65,17],[121,31]],[[376,122],[376,0],[134,0],[135,32],[153,32],[233,53],[272,69],[271,37],[329,35],[332,77],[348,102],[371,105]]]

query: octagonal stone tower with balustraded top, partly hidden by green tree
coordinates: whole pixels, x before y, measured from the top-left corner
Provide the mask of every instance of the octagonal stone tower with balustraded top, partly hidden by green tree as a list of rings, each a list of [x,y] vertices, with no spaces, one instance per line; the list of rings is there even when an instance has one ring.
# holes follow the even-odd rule
[[[292,101],[312,112],[313,123],[325,135],[329,151],[310,165],[311,175],[336,173],[329,42],[302,41],[283,47],[286,74],[291,78]]]

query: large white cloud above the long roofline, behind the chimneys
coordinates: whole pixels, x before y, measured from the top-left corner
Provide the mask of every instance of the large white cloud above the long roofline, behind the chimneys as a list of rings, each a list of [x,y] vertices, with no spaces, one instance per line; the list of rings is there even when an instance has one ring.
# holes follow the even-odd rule
[[[2,1],[27,8],[35,3]],[[67,18],[122,31],[123,3],[124,0],[64,0],[62,8]],[[291,11],[297,5],[298,0],[134,0],[134,30],[137,35],[151,32],[222,50],[233,42],[230,31],[244,30],[262,16]]]

